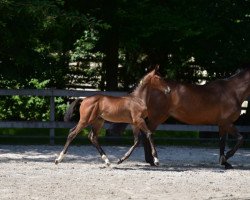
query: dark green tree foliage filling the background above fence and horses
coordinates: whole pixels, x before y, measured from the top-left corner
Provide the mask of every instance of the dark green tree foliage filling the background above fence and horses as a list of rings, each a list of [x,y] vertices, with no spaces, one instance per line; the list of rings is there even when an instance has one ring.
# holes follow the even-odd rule
[[[249,7],[247,0],[0,0],[0,87],[128,91],[155,64],[178,81],[198,82],[200,70],[209,80],[225,77],[250,63]],[[0,101],[1,119],[48,119],[46,98]]]

